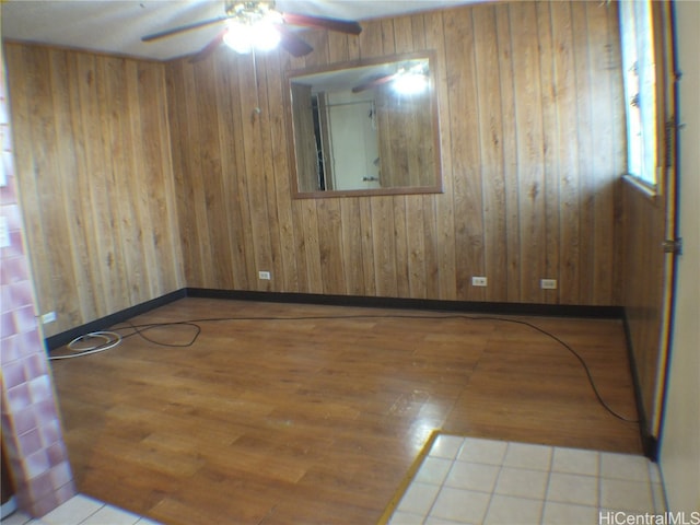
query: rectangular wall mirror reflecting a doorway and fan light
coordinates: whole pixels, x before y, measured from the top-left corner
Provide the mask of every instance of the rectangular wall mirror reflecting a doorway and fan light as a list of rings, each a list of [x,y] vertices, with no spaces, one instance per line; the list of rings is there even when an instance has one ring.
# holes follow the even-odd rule
[[[442,191],[432,52],[287,72],[296,198]]]

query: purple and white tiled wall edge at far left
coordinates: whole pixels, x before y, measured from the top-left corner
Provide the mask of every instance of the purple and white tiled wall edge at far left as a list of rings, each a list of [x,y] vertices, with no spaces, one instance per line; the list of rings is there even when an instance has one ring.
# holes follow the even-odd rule
[[[0,56],[1,57],[1,56]],[[43,516],[75,494],[54,383],[35,317],[0,58],[0,386],[2,446],[20,509]]]

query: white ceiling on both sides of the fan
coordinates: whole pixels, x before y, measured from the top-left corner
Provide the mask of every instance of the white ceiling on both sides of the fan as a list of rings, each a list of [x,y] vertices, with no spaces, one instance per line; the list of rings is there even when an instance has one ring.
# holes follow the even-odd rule
[[[476,0],[278,0],[282,12],[368,20]],[[77,49],[167,60],[205,47],[212,25],[152,43],[143,35],[224,14],[223,0],[7,0],[2,37]]]

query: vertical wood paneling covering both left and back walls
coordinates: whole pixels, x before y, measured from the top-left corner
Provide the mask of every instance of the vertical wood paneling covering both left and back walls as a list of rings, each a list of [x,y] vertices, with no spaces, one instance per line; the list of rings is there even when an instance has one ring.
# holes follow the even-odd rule
[[[183,285],[619,304],[615,10],[499,2],[362,25],[305,32],[310,56],[255,63],[224,48],[158,65],[8,45],[37,288],[60,312],[49,332]],[[444,191],[292,199],[284,72],[424,49]]]

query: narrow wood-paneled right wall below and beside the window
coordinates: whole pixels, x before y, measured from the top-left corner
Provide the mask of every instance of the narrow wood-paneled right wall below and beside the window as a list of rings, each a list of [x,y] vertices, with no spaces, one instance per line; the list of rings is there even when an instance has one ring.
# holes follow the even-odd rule
[[[656,185],[649,188],[626,177],[622,191],[625,306],[629,345],[639,384],[644,431],[658,439],[662,427],[669,330],[673,317],[675,255],[665,253],[664,241],[678,232],[677,159],[674,155],[678,128],[676,105],[677,65],[674,57],[674,24],[668,1],[652,3],[656,78]],[[655,454],[655,451],[653,452]]]

